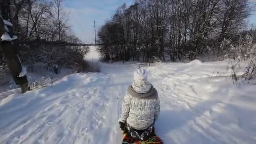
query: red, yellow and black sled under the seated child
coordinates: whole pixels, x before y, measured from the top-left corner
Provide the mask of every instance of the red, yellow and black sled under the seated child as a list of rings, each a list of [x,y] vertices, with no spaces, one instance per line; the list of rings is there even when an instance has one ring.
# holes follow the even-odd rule
[[[132,136],[127,133],[123,134],[122,144],[163,144],[158,136],[152,136],[146,141],[135,141]]]

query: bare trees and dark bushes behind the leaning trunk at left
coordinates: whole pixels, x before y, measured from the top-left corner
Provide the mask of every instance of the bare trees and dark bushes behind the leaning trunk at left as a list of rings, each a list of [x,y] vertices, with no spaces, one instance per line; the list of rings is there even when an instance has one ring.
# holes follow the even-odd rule
[[[0,0],[0,14],[13,27],[6,32],[17,35],[14,51],[24,64],[43,62],[47,67],[58,64],[71,67],[83,64],[88,47],[81,47],[82,41],[68,24],[69,13],[65,0]],[[14,41],[13,41],[14,42]],[[6,64],[0,51],[0,65]]]

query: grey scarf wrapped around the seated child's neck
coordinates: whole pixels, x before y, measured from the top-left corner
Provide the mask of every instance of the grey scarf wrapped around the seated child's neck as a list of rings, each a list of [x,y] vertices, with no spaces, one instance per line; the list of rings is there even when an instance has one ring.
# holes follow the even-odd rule
[[[128,87],[127,93],[133,97],[139,98],[139,99],[157,99],[158,94],[157,90],[151,86],[151,89],[147,93],[137,93],[134,91],[133,87],[130,85]]]

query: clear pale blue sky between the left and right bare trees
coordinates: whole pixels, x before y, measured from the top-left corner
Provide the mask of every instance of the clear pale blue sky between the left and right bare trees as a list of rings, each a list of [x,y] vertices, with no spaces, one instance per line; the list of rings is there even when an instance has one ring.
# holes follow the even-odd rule
[[[256,0],[251,0],[256,3]],[[126,3],[131,5],[134,0],[63,0],[63,6],[69,13],[69,24],[75,35],[84,43],[94,43],[93,21],[96,29],[111,19],[118,6]],[[256,12],[248,18],[249,23],[256,26]]]

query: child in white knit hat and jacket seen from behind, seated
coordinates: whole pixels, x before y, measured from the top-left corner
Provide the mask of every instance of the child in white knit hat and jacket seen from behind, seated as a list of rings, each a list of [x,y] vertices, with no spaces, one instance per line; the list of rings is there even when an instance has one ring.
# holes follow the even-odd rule
[[[122,103],[120,128],[135,141],[144,141],[155,136],[154,123],[160,113],[157,90],[148,82],[148,72],[138,69],[134,81],[128,87]]]

